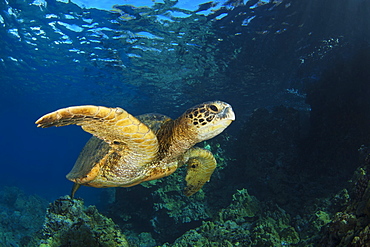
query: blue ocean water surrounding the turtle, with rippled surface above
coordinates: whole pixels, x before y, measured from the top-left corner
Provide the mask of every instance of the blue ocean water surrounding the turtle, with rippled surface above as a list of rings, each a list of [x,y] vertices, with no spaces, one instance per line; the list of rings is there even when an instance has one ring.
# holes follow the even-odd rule
[[[261,199],[281,193],[266,185],[282,179],[274,178],[277,170],[286,171],[282,180],[294,181],[287,186],[294,191],[305,187],[309,177],[317,178],[310,184],[312,191],[299,190],[302,194],[295,198],[327,195],[351,178],[357,149],[370,143],[369,1],[79,4],[0,0],[0,187],[15,186],[50,202],[69,194],[72,183],[65,175],[90,134],[77,126],[37,128],[34,122],[48,112],[92,104],[176,118],[209,100],[230,103],[236,114],[236,121],[216,139],[224,148],[220,153],[233,160],[215,182],[223,187],[220,191],[228,188],[230,197],[244,187]],[[263,139],[276,125],[284,125],[277,118],[291,116],[276,107],[299,112],[294,122],[300,124],[294,134],[299,141],[289,144],[300,150],[297,157],[287,158],[293,152],[284,146],[290,132],[284,138],[272,134]],[[259,108],[277,116],[270,118]],[[248,122],[254,113],[255,119],[276,124],[263,128],[258,119]],[[248,130],[261,139],[249,142],[256,135]],[[270,162],[266,157],[278,146],[274,141],[283,148]],[[251,161],[252,149],[247,147],[256,148],[255,154],[267,161]],[[295,159],[314,164],[286,165]],[[248,177],[250,171],[243,166],[257,167],[257,174]],[[307,176],[296,181],[301,170]],[[229,178],[227,187],[223,182]],[[78,195],[87,204],[98,204],[101,191],[84,187]],[[287,198],[278,204],[296,208],[299,202],[289,204]],[[152,225],[153,219],[148,220]],[[198,218],[194,221],[200,224]]]

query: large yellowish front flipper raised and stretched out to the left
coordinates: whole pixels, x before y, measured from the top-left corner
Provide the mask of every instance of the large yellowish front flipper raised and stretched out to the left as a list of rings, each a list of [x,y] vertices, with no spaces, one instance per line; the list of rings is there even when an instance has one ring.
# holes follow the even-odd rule
[[[36,124],[42,128],[79,125],[112,148],[125,150],[127,159],[135,157],[136,164],[152,161],[158,151],[155,134],[137,118],[118,107],[86,105],[63,108],[44,115]]]

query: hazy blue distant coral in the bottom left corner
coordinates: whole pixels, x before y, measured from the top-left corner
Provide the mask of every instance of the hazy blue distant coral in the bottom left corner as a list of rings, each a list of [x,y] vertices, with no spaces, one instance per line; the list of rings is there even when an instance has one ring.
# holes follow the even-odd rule
[[[37,246],[47,201],[17,187],[0,190],[0,246]]]

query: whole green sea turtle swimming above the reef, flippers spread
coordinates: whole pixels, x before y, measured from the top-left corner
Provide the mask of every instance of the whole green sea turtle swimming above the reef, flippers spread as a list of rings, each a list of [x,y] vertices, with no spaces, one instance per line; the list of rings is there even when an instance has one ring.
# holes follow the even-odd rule
[[[216,160],[196,143],[220,134],[235,120],[231,106],[212,101],[194,106],[176,120],[161,114],[134,117],[121,108],[73,106],[42,116],[37,127],[76,124],[93,137],[67,179],[97,188],[129,187],[172,174],[187,165],[184,194],[191,196],[210,179]]]

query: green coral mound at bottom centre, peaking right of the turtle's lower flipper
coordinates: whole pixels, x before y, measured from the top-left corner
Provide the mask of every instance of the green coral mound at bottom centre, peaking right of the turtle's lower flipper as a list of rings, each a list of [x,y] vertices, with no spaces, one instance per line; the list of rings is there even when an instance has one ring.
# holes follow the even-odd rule
[[[293,246],[300,240],[290,216],[281,208],[262,210],[265,206],[246,189],[233,195],[232,203],[222,209],[217,219],[205,221],[167,246]],[[272,209],[272,208],[271,208]]]

